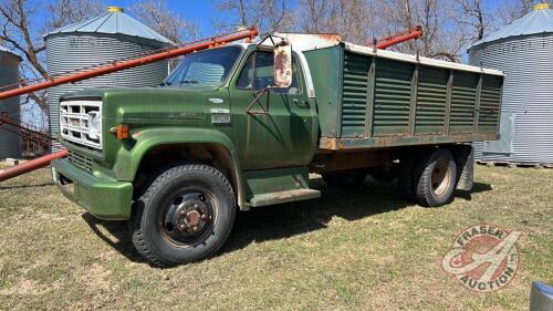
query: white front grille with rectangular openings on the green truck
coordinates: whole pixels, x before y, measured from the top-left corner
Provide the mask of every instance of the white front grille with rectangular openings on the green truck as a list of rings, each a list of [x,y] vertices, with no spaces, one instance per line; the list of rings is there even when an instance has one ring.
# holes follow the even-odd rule
[[[94,149],[102,149],[102,102],[60,102],[62,138]]]

